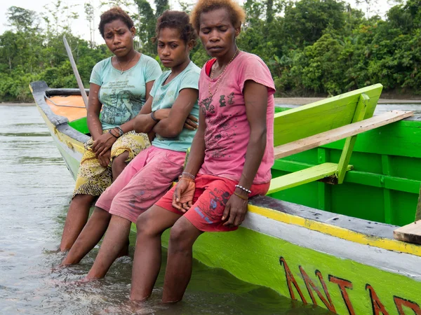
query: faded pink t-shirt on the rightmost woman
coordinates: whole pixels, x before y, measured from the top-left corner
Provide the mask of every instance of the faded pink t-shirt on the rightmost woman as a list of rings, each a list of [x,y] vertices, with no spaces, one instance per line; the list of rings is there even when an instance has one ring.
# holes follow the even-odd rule
[[[268,183],[274,164],[274,80],[265,62],[248,52],[239,55],[227,66],[222,77],[210,80],[203,66],[199,78],[199,107],[206,116],[205,160],[200,174],[239,181],[243,173],[250,139],[243,87],[246,80],[267,86],[267,141],[265,154],[253,184]],[[221,78],[218,90],[218,79]],[[214,93],[212,99],[210,92]]]

